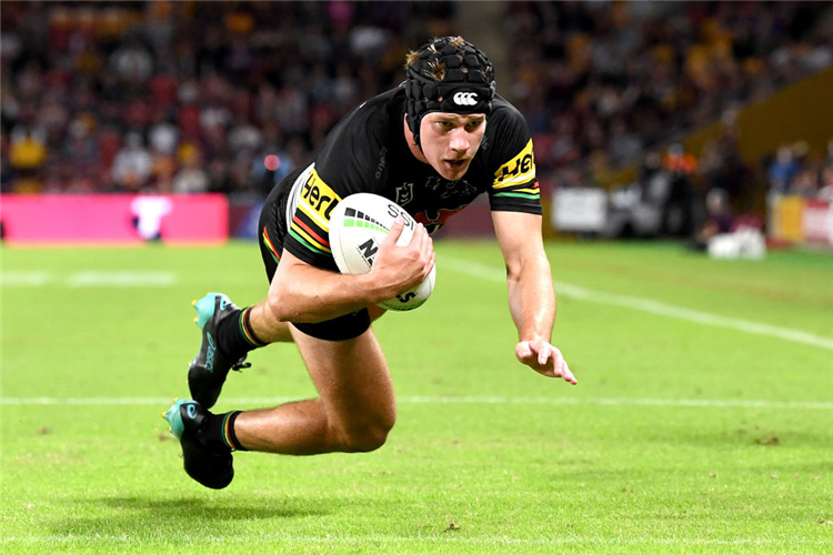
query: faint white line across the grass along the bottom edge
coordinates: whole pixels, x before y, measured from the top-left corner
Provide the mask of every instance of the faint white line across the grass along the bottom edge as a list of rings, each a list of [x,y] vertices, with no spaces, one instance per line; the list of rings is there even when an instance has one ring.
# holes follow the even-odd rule
[[[292,544],[307,544],[307,545],[338,545],[348,543],[355,545],[357,543],[370,543],[370,544],[464,544],[464,545],[484,545],[484,546],[500,546],[500,545],[530,545],[530,546],[546,546],[546,545],[723,545],[723,546],[771,546],[771,545],[783,545],[783,546],[796,546],[796,545],[830,545],[827,538],[813,538],[809,539],[801,536],[792,536],[784,538],[775,537],[739,537],[731,539],[722,538],[709,538],[709,537],[595,537],[595,536],[566,536],[566,537],[466,537],[460,535],[462,532],[456,532],[454,535],[443,536],[394,536],[388,534],[365,534],[365,535],[322,535],[322,536],[302,536],[302,535],[283,535],[283,534],[251,534],[251,535],[229,535],[229,536],[217,536],[217,535],[200,535],[190,536],[178,535],[177,542],[185,542],[188,544],[200,545],[200,544],[248,544],[248,543],[292,543]],[[141,543],[142,545],[158,545],[167,543],[164,538],[154,537],[151,541],[144,535],[113,535],[113,534],[68,534],[68,535],[34,535],[34,536],[10,536],[0,538],[0,544],[43,544],[43,543],[56,543],[56,544],[70,544],[76,542],[82,543],[103,543],[103,542],[117,542],[117,543]]]

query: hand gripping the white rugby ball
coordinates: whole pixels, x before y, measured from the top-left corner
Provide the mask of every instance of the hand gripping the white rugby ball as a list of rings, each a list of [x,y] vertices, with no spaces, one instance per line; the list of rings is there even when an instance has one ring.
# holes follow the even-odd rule
[[[370,273],[375,274],[379,280],[378,283],[388,290],[385,292],[388,296],[384,299],[415,287],[434,268],[436,259],[434,243],[421,223],[416,224],[410,243],[403,246],[397,245],[404,225],[404,219],[398,216],[391,231],[379,245],[379,252],[370,270]]]

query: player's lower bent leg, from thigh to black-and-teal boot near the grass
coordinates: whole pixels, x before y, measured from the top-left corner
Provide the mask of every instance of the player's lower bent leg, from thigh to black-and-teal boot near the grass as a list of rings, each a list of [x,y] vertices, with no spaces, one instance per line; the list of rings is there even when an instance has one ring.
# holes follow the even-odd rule
[[[291,330],[319,398],[225,414],[183,400],[163,414],[182,446],[185,472],[200,484],[228,486],[234,450],[312,455],[372,451],[385,442],[397,406],[373,332],[368,327],[357,337],[330,341]]]

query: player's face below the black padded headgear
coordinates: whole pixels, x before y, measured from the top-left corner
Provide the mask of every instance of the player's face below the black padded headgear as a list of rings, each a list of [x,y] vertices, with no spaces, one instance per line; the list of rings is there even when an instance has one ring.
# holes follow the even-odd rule
[[[422,153],[440,175],[456,181],[469,171],[484,132],[482,113],[431,112],[420,125]]]

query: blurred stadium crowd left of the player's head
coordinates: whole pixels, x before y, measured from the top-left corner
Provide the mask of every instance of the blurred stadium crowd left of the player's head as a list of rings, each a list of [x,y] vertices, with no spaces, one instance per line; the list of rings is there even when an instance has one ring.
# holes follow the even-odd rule
[[[3,1],[0,191],[224,192],[399,84],[448,0]],[[268,174],[263,160],[281,165]]]

